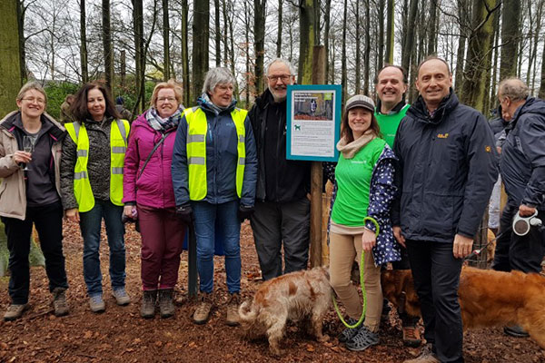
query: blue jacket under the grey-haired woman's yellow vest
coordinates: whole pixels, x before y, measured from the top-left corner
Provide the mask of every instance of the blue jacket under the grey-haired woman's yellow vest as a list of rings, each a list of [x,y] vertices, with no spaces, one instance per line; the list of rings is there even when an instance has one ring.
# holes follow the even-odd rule
[[[208,130],[206,133],[206,183],[207,194],[203,201],[221,204],[238,200],[236,193],[236,165],[238,161],[237,135],[231,112],[236,101],[221,113],[215,113],[210,103],[202,98],[197,100],[199,107],[206,114]],[[244,120],[246,131],[246,163],[244,168],[241,204],[253,206],[255,200],[255,182],[257,181],[257,156],[250,120]],[[187,169],[187,121],[180,120],[173,149],[173,188],[176,205],[189,202]]]

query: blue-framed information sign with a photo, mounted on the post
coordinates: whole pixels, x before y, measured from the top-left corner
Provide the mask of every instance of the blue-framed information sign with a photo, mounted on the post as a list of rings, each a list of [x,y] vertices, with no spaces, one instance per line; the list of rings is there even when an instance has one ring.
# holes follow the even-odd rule
[[[340,95],[336,85],[288,87],[288,159],[337,160]]]

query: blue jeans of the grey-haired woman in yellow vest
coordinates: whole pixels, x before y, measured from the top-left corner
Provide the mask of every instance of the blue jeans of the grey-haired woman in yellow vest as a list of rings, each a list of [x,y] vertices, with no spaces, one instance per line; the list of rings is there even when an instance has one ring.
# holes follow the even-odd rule
[[[197,270],[202,292],[213,291],[214,225],[216,219],[223,228],[225,273],[227,289],[233,294],[241,289],[241,222],[237,211],[239,201],[211,204],[207,201],[192,202],[197,238]]]

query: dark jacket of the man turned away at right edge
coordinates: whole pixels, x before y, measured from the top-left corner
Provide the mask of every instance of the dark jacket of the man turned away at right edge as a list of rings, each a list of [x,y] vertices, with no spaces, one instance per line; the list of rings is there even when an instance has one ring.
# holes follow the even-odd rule
[[[506,132],[500,170],[508,199],[545,211],[545,101],[529,98]]]

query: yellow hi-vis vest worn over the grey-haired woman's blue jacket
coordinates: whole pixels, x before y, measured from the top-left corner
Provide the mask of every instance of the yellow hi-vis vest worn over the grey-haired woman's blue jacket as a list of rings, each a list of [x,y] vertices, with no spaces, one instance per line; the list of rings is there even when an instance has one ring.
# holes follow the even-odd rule
[[[201,201],[206,197],[206,132],[208,123],[206,114],[200,107],[186,108],[183,111],[187,121],[187,165],[189,173],[189,199]],[[246,130],[244,120],[248,111],[235,108],[231,112],[237,135],[238,162],[236,165],[236,193],[239,198],[243,194],[244,166],[246,163]]]

